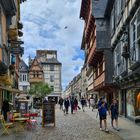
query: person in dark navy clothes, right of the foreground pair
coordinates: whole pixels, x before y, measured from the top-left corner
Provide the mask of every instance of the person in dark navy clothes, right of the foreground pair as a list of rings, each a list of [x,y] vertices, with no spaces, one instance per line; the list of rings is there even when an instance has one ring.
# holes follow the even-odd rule
[[[117,100],[114,99],[111,106],[110,106],[110,111],[109,111],[109,114],[111,116],[111,125],[112,125],[112,128],[115,128],[114,127],[114,120],[115,120],[115,125],[116,125],[116,130],[119,131],[119,128],[118,128],[118,103],[117,103]]]

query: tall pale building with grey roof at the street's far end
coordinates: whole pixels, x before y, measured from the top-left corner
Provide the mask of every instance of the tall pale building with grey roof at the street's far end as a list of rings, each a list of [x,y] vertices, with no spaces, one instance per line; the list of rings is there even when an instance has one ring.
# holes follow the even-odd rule
[[[48,83],[53,88],[53,92],[50,95],[48,95],[48,97],[55,98],[57,101],[62,93],[62,64],[57,59],[57,51],[37,50],[36,57],[43,68],[44,82]]]

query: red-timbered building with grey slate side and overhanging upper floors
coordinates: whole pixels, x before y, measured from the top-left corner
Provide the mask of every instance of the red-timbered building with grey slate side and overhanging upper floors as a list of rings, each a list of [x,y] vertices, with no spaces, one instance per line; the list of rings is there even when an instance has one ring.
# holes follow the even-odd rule
[[[110,12],[112,1],[83,0],[80,18],[85,27],[81,48],[85,51],[89,94],[105,96],[109,104],[114,97],[113,53],[110,41]]]

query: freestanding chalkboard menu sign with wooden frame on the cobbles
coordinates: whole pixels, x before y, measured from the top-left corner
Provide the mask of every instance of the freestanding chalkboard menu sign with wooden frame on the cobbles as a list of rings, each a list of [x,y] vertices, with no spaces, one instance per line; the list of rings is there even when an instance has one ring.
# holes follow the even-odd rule
[[[54,124],[55,126],[55,104],[44,103],[42,113],[42,126],[45,127],[48,124]]]

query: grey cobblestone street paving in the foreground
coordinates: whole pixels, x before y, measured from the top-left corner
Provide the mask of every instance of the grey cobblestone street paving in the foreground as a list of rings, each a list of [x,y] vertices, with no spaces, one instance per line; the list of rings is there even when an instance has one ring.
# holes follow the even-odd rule
[[[18,136],[1,136],[0,140],[121,140],[112,132],[105,133],[99,130],[98,123],[86,112],[78,111],[75,114],[64,115],[56,109],[56,127],[42,128],[28,131]]]

